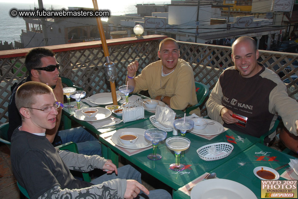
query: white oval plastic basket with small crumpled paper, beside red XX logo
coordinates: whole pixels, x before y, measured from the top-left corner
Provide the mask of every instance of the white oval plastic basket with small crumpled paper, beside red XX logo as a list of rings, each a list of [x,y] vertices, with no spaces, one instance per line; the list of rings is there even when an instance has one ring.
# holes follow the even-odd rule
[[[215,145],[216,148],[216,155],[212,155],[208,153],[208,148]],[[231,154],[232,150],[234,149],[234,146],[228,142],[218,142],[213,144],[207,144],[205,146],[200,147],[197,150],[197,153],[199,154],[199,157],[202,160],[206,161],[212,161],[212,160],[219,160],[222,158],[227,157],[229,154]]]

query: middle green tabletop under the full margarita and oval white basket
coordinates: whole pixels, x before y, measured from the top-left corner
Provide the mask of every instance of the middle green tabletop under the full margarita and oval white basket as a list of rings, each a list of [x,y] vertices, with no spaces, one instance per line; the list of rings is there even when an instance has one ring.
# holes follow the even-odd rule
[[[149,129],[155,127],[151,124],[150,120],[145,120],[127,126],[126,128]],[[178,135],[180,135],[179,131]],[[167,132],[167,138],[172,136],[172,131]],[[231,143],[234,146],[234,150],[226,158],[216,161],[204,161],[199,158],[199,155],[196,152],[196,150],[201,146],[216,142],[229,142],[229,139],[231,139],[232,137],[238,138],[237,136],[241,136],[242,140],[236,141],[232,139],[233,142]],[[107,148],[110,148],[111,150],[115,151],[115,153],[120,154],[139,168],[146,171],[148,174],[169,185],[174,190],[178,190],[180,187],[194,180],[195,178],[199,177],[205,172],[209,172],[210,170],[215,169],[217,166],[224,164],[237,154],[240,154],[242,151],[259,141],[258,138],[242,133],[236,133],[230,129],[224,131],[223,133],[211,140],[204,139],[189,132],[186,133],[185,137],[190,139],[191,144],[187,150],[181,153],[180,163],[186,165],[187,167],[187,169],[181,172],[176,172],[169,168],[169,165],[175,162],[175,154],[173,151],[167,148],[167,146],[165,145],[165,140],[158,143],[157,153],[161,154],[162,158],[157,161],[152,161],[147,158],[147,155],[152,153],[152,148],[142,151],[138,154],[128,156],[123,151],[113,146],[111,143],[107,142],[102,137],[99,137],[99,140],[104,145],[106,145]]]

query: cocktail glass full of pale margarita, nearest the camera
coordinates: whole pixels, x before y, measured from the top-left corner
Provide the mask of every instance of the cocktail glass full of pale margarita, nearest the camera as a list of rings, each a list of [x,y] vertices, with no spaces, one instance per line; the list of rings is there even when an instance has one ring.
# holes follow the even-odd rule
[[[184,137],[174,136],[166,139],[166,145],[175,152],[175,163],[170,165],[170,169],[174,171],[182,171],[185,166],[180,164],[181,151],[187,150],[190,146],[190,140]]]

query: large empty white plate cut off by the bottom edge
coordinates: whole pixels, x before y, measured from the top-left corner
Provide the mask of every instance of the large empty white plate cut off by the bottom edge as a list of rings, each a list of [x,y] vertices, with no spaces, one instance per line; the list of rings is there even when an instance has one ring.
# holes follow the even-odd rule
[[[255,199],[256,195],[246,186],[227,179],[203,180],[195,185],[191,199]]]

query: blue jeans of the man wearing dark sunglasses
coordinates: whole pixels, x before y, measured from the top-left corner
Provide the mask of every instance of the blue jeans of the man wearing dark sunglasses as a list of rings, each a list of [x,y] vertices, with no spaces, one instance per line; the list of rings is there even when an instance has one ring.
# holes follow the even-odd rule
[[[101,145],[97,138],[86,131],[83,127],[58,131],[62,143],[74,142],[78,146],[79,154],[101,156]]]

